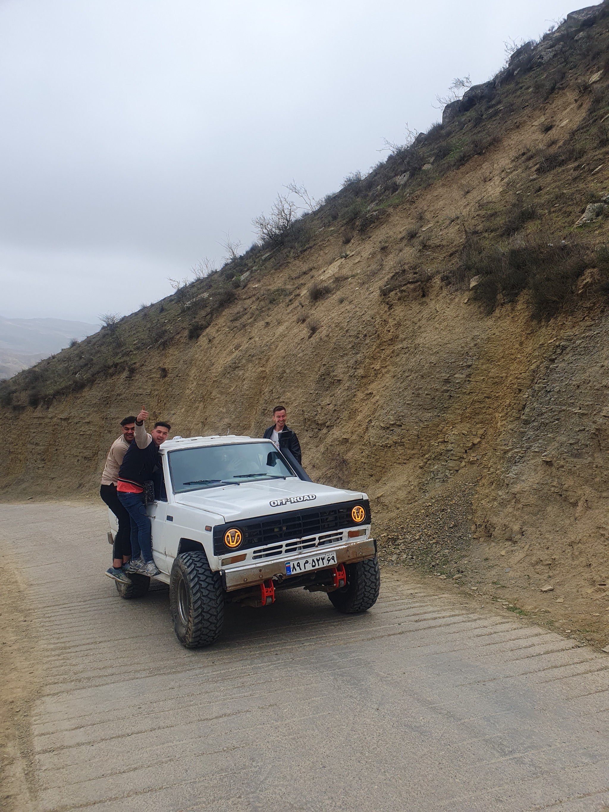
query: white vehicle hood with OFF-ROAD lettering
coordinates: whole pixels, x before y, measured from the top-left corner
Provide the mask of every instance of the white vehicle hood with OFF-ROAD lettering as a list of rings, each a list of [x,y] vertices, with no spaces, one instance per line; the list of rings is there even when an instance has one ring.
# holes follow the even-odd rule
[[[315,499],[298,499],[302,496],[314,496]],[[288,501],[292,499],[293,501]],[[188,508],[219,513],[224,516],[225,522],[268,516],[270,513],[287,513],[298,508],[348,502],[351,499],[367,499],[367,497],[361,490],[331,488],[296,478],[225,485],[175,495],[176,503]],[[271,505],[271,502],[279,504]]]

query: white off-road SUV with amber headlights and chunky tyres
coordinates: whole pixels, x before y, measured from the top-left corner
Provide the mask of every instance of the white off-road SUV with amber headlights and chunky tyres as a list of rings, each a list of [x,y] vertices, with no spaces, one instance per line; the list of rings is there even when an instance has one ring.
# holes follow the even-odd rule
[[[227,601],[266,606],[279,590],[323,591],[336,609],[378,598],[368,497],[311,482],[289,451],[251,437],[176,437],[161,446],[160,498],[148,505],[156,576],[170,587],[179,641],[209,646]],[[118,529],[110,514],[109,540]],[[113,531],[113,532],[112,532]],[[139,598],[150,579],[116,582]]]

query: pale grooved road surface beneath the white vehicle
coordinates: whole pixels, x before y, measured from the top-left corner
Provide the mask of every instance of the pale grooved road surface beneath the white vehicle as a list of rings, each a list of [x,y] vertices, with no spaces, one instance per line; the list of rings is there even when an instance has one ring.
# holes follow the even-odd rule
[[[281,594],[187,651],[166,590],[117,596],[105,534],[0,507],[2,809],[609,806],[607,657],[391,574],[366,615]]]

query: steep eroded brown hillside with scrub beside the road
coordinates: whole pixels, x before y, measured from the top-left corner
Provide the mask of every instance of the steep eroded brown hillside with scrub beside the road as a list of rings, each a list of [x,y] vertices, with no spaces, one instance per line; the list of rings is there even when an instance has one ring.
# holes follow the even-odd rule
[[[6,382],[4,498],[93,495],[141,404],[255,435],[280,401],[387,563],[607,645],[608,43],[604,3],[570,15],[277,239]]]

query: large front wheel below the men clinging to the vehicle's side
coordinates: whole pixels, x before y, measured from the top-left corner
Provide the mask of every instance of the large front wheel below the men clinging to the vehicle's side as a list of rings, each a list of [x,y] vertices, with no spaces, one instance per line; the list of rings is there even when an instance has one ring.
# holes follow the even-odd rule
[[[210,646],[222,632],[224,592],[219,572],[209,569],[202,551],[178,555],[171,568],[171,618],[187,649]]]

